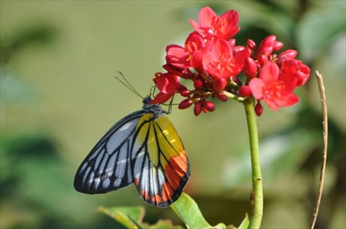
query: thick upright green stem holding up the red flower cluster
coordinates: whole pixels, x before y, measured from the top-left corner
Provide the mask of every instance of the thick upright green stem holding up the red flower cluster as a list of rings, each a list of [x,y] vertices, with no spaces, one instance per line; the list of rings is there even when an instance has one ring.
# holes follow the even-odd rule
[[[252,192],[250,199],[253,213],[250,217],[249,228],[259,228],[263,215],[262,175],[259,164],[259,137],[253,100],[244,101],[244,106],[248,123],[252,168]]]

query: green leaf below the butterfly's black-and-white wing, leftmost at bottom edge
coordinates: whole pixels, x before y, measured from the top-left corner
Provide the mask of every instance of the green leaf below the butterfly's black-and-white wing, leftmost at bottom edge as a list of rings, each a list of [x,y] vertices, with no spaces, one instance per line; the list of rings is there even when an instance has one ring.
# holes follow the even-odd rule
[[[124,225],[126,228],[130,229],[141,229],[140,224],[142,223],[144,217],[144,207],[99,207],[97,209],[111,218],[115,219],[117,222]]]

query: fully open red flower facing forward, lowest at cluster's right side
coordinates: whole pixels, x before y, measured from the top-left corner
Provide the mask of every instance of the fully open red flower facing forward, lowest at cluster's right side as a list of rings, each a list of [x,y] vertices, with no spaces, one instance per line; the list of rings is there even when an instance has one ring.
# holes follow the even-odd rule
[[[281,72],[278,65],[267,63],[259,72],[259,78],[253,78],[249,84],[252,95],[264,102],[273,110],[278,106],[291,106],[299,101],[292,94],[297,86],[297,78],[289,72]]]

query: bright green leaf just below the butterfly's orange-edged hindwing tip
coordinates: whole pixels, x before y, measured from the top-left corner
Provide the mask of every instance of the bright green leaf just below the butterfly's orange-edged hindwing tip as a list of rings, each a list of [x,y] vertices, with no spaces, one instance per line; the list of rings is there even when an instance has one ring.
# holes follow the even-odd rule
[[[171,205],[171,208],[185,223],[187,228],[212,228],[204,219],[197,203],[185,193],[181,194]]]

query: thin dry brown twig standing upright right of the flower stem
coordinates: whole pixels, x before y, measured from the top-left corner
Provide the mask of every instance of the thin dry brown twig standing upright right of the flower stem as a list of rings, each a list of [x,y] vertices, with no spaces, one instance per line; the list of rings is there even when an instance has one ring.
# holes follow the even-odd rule
[[[316,197],[315,207],[313,209],[311,221],[310,221],[310,229],[315,227],[318,209],[321,204],[321,197],[323,193],[323,183],[324,183],[324,174],[326,171],[326,162],[327,162],[327,146],[328,146],[328,112],[327,112],[327,100],[326,93],[323,85],[322,75],[316,71],[316,78],[318,83],[318,88],[320,92],[321,98],[321,106],[322,106],[322,120],[323,120],[323,151],[322,151],[322,164],[321,164],[321,172],[320,179],[318,184],[318,193]]]

